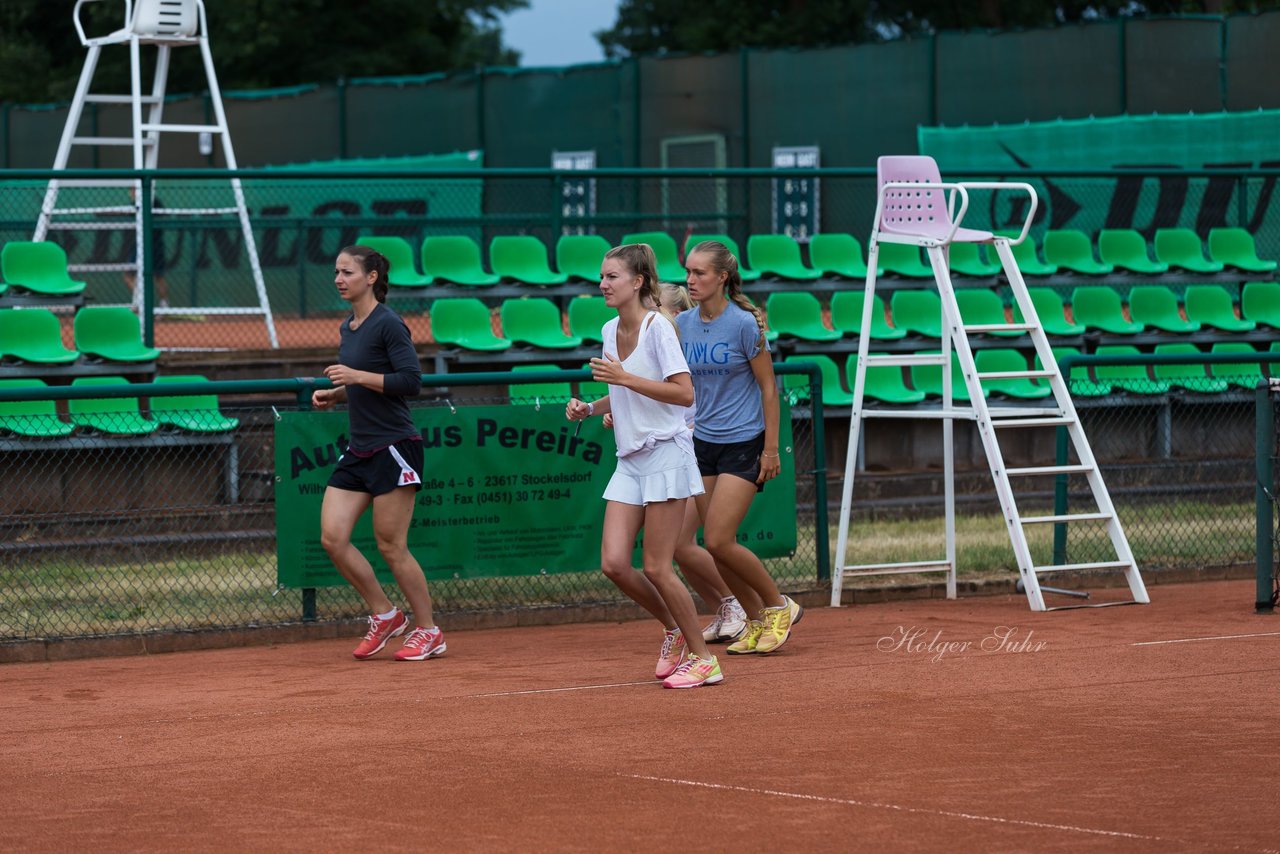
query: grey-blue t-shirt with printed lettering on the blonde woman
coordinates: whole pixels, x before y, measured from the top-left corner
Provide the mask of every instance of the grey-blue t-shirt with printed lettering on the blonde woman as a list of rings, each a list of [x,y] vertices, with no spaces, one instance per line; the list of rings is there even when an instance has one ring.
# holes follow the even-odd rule
[[[726,444],[764,433],[760,387],[750,365],[760,352],[755,316],[730,302],[705,323],[695,306],[676,315],[676,325],[694,379],[694,437]]]

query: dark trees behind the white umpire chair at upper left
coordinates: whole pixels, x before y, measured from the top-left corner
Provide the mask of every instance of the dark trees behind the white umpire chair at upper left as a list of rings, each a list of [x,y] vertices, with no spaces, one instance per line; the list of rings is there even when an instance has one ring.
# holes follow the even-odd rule
[[[50,0],[0,3],[0,101],[70,100],[86,51],[72,23],[73,4],[56,4],[63,14],[51,14],[51,5]],[[237,90],[515,65],[520,55],[503,46],[498,17],[527,5],[529,0],[207,0],[206,10],[218,82]],[[101,36],[118,29],[123,15],[123,0],[109,0],[86,4],[81,19],[87,33]],[[200,63],[180,58],[182,51],[174,54],[169,92],[204,91]],[[127,92],[128,81],[128,51],[104,50],[93,91]]]

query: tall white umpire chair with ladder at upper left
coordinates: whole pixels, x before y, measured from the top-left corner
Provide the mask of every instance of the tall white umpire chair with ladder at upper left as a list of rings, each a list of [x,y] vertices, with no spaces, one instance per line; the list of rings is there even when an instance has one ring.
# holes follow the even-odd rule
[[[84,68],[81,70],[79,82],[76,86],[76,95],[72,99],[70,109],[67,114],[67,125],[63,128],[61,140],[58,143],[58,154],[54,157],[54,169],[67,169],[72,151],[78,147],[97,146],[131,146],[133,150],[134,169],[155,169],[160,157],[160,138],[166,133],[209,134],[210,141],[218,137],[221,142],[223,160],[227,169],[234,170],[236,152],[232,147],[230,133],[227,129],[227,113],[223,109],[221,90],[218,87],[218,76],[214,72],[214,58],[209,50],[207,24],[205,20],[205,4],[202,0],[122,0],[124,9],[124,26],[106,35],[91,37],[84,32],[81,22],[81,9],[91,3],[105,0],[77,0],[72,12],[76,23],[76,33],[81,44],[88,49],[84,56]],[[93,93],[91,92],[93,72],[97,69],[99,56],[104,47],[110,45],[124,45],[129,49],[129,92],[128,93]],[[155,45],[156,61],[155,73],[151,81],[151,91],[142,93],[142,45]],[[170,52],[175,47],[198,47],[204,63],[205,78],[209,88],[209,100],[214,109],[212,124],[177,124],[164,120],[165,86],[169,77]],[[127,137],[106,136],[81,136],[79,123],[84,114],[86,104],[128,106],[131,110],[129,128]],[[142,108],[146,106],[143,118]],[[70,187],[132,187],[133,204],[131,205],[74,205],[59,207],[59,192]],[[253,229],[248,218],[248,207],[244,204],[244,192],[239,178],[230,179],[230,205],[218,207],[175,207],[166,205],[156,207],[154,200],[142,202],[142,182],[140,179],[54,179],[49,182],[45,192],[45,202],[40,210],[40,219],[32,239],[42,241],[52,230],[129,230],[134,232],[136,246],[138,247],[136,259],[128,262],[115,264],[78,264],[70,270],[104,271],[120,270],[132,273],[141,283],[150,261],[146,243],[147,229],[145,220],[152,216],[180,218],[180,216],[218,216],[234,214],[239,220],[241,233],[244,239],[244,251],[248,255],[250,268],[253,274],[253,286],[257,292],[259,305],[256,307],[229,307],[229,306],[198,306],[200,314],[221,315],[262,315],[266,323],[266,333],[271,347],[278,347],[275,335],[275,321],[271,316],[271,306],[268,301],[266,287],[262,283],[262,269],[257,257],[257,245],[253,239]],[[152,183],[154,196],[154,183]],[[172,200],[170,200],[172,201]],[[110,218],[99,218],[100,214],[132,214],[133,222],[120,216],[116,223]],[[133,307],[142,311],[142,287],[134,288]],[[191,314],[191,307],[154,307],[157,315],[163,314]]]

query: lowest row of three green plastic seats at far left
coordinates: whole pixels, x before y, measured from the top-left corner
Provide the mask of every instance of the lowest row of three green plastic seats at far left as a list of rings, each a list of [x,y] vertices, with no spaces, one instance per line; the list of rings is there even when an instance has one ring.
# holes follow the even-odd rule
[[[206,376],[157,376],[157,384],[207,383]],[[73,388],[128,385],[123,376],[77,376]],[[47,388],[38,379],[0,380],[0,389]],[[69,423],[58,417],[56,403],[46,401],[0,401],[0,430],[29,437],[56,438],[77,428],[110,435],[147,435],[161,428],[192,433],[225,433],[239,426],[239,419],[224,416],[216,394],[156,396],[150,398],[151,417],[142,415],[137,397],[104,397],[67,401]]]

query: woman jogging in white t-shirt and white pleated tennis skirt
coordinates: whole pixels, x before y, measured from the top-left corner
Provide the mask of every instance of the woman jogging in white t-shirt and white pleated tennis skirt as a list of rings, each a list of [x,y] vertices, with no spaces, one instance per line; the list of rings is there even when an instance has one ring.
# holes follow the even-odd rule
[[[581,421],[613,415],[618,466],[604,489],[600,566],[640,607],[663,624],[662,653],[654,675],[664,688],[719,682],[719,662],[707,649],[694,599],[672,561],[685,504],[703,492],[685,407],[694,384],[676,328],[641,305],[657,302],[657,259],[645,243],[618,246],[600,265],[600,292],[617,319],[604,324],[604,350],[591,360],[591,376],[609,384],[598,401],[572,398],[564,417]],[[635,538],[644,528],[644,575],[631,567]]]

